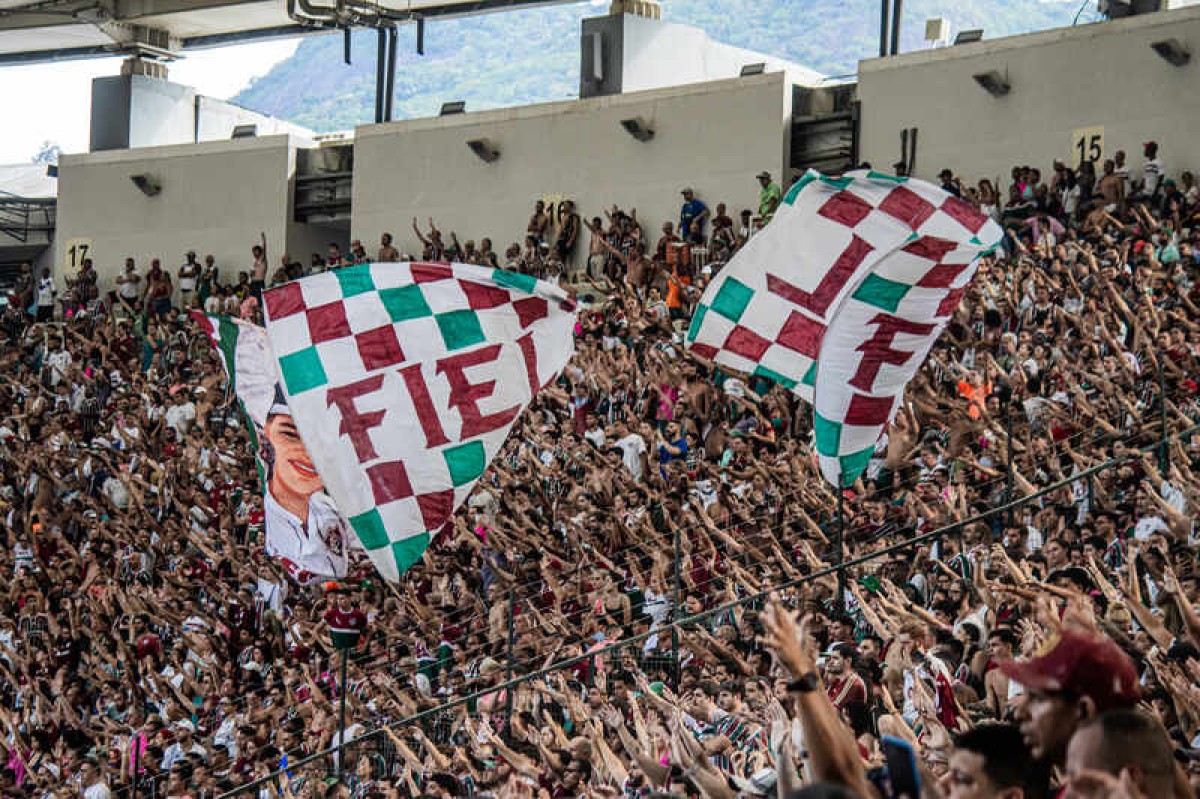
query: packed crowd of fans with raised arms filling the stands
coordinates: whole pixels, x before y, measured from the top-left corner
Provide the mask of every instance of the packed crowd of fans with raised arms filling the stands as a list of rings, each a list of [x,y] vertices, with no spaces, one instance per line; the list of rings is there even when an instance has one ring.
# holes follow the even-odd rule
[[[0,319],[0,794],[1194,795],[1200,198],[1145,155],[1015,168],[1007,204],[943,174],[1004,246],[840,498],[808,409],[680,344],[770,175],[740,226],[688,188],[653,246],[616,206],[536,208],[503,263],[414,220],[425,258],[562,280],[577,354],[401,585],[362,561],[282,601],[253,450],[179,308],[257,318],[361,244],[272,274],[260,242],[229,283],[194,253],[104,290],[25,270]],[[368,619],[344,690],[335,603]],[[344,739],[376,734],[337,763],[342,699]]]

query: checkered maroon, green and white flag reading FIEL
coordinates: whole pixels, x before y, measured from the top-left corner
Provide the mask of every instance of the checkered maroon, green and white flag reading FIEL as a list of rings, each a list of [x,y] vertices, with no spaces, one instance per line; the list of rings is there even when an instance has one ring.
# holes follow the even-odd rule
[[[574,350],[558,288],[464,264],[364,264],[263,295],[295,426],[397,579]]]

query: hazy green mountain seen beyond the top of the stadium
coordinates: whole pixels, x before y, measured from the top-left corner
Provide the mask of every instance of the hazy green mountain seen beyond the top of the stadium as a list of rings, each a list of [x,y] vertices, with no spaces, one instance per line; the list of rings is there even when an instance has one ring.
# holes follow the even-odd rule
[[[923,47],[924,22],[946,17],[955,30],[983,28],[988,38],[1070,25],[1091,0],[907,0],[901,49]],[[696,25],[714,40],[788,59],[830,76],[853,73],[878,52],[878,0],[666,0],[664,19]],[[468,110],[575,97],[580,20],[606,1],[547,6],[431,22],[424,56],[416,29],[400,29],[394,116],[430,116],[445,101]],[[1085,12],[1085,20],[1091,17]],[[311,36],[292,58],[234,102],[310,127],[336,131],[374,114],[374,31]]]

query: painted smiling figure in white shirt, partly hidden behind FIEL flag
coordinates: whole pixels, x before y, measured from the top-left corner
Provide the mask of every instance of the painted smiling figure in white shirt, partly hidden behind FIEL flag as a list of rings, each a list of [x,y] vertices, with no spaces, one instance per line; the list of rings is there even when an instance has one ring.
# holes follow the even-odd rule
[[[260,440],[268,467],[263,495],[266,553],[278,558],[300,583],[343,577],[352,534],[324,491],[280,386]]]

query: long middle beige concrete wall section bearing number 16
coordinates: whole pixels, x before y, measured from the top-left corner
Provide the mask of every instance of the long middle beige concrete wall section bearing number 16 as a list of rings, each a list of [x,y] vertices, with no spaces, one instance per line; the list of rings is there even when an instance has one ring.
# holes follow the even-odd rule
[[[757,209],[755,174],[781,175],[786,163],[791,83],[770,73],[359,127],[353,235],[372,250],[386,230],[401,252],[419,254],[412,220],[424,230],[433,216],[446,236],[488,236],[503,256],[546,196],[574,199],[587,218],[602,218],[613,203],[636,208],[652,244],[664,221],[678,222],[683,186],[709,208]],[[619,122],[631,116],[646,119],[654,139],[630,137]],[[498,161],[484,163],[467,148],[481,138],[500,150]],[[577,254],[587,241],[584,230]]]

